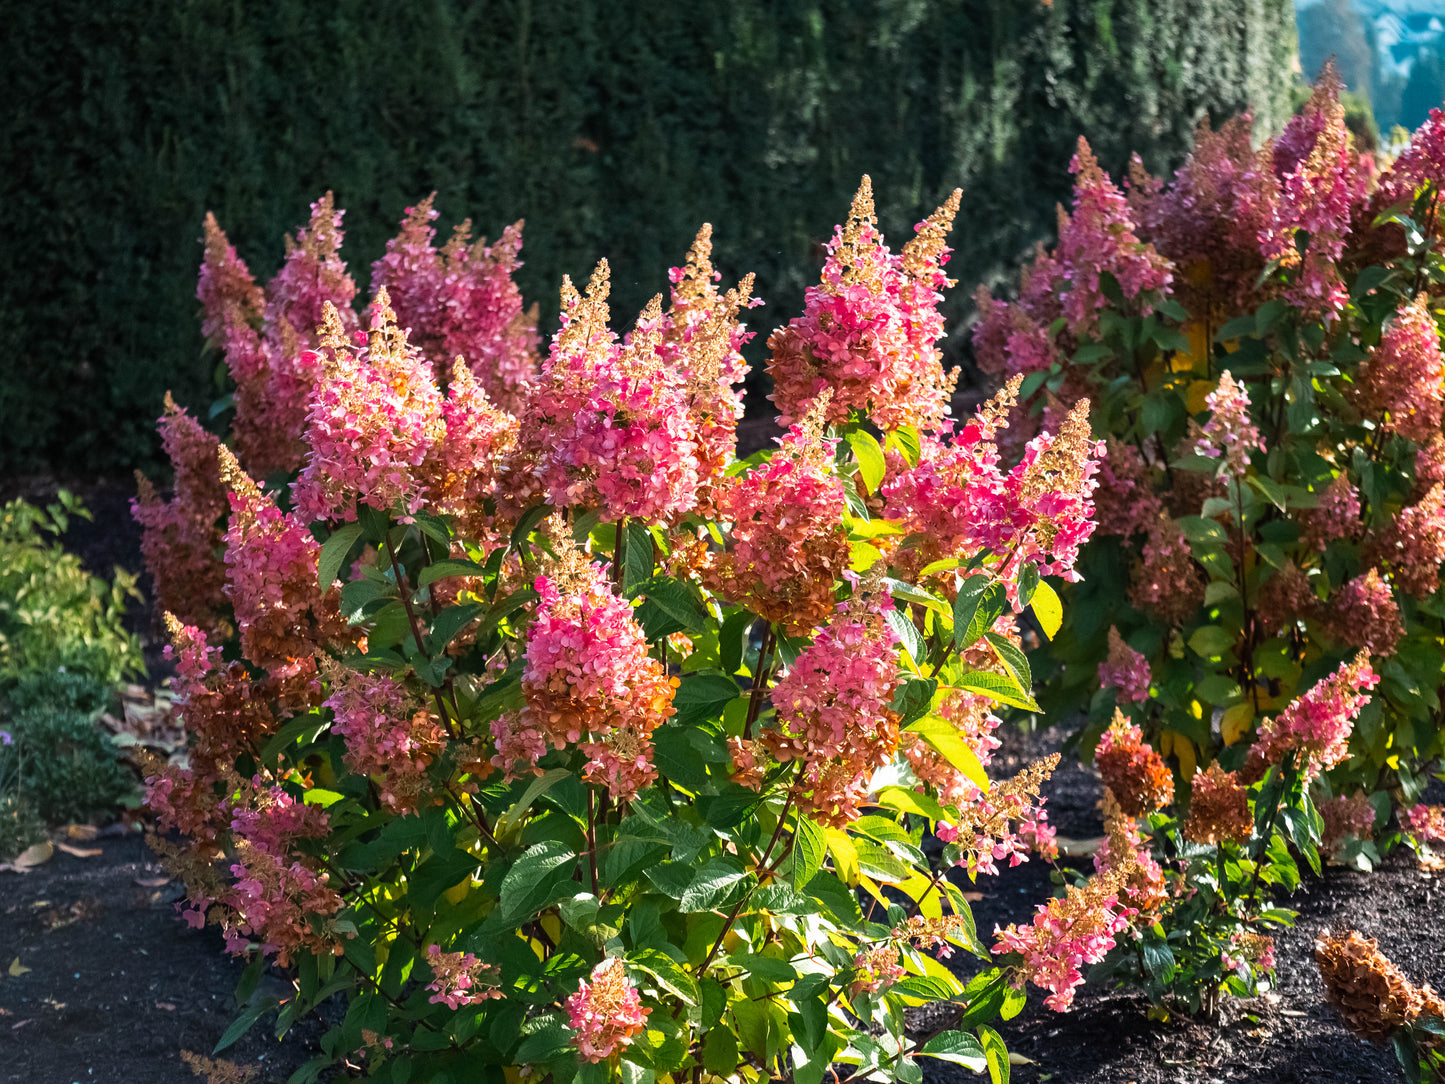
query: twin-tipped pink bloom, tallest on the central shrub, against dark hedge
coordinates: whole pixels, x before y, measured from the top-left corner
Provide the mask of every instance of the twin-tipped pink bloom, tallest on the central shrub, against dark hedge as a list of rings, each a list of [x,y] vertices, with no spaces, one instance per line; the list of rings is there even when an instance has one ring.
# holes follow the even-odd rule
[[[783,425],[801,419],[821,392],[831,390],[827,421],[857,410],[880,429],[936,428],[954,379],[944,373],[938,341],[944,244],[959,192],[918,224],[916,237],[894,256],[883,243],[867,176],[845,225],[828,243],[822,283],[805,293],[803,315],[769,338],[772,400]]]

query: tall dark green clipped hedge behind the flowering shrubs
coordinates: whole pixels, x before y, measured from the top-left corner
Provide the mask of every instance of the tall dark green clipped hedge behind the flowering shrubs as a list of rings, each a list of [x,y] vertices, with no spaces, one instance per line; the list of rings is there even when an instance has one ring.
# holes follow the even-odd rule
[[[366,289],[438,189],[444,228],[527,218],[543,314],[607,256],[618,322],[707,220],[724,273],[757,272],[764,328],[860,173],[899,240],[965,189],[964,295],[1052,228],[1078,133],[1117,171],[1130,149],[1176,162],[1205,108],[1277,127],[1295,52],[1289,0],[3,0],[0,19],[0,473],[153,468],[165,389],[214,397],[207,210],[269,276],[334,188]]]

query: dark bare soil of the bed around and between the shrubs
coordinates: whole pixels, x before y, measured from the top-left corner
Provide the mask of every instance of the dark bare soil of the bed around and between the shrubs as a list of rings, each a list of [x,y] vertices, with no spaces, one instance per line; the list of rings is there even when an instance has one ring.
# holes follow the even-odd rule
[[[764,426],[749,426],[751,448],[767,441]],[[751,449],[749,448],[749,449]],[[0,497],[43,502],[46,478],[0,486]],[[120,564],[139,571],[139,532],[129,516],[130,489],[71,484],[94,512],[77,523],[66,545],[91,571]],[[146,646],[152,679],[165,674],[152,614],[136,607],[130,624]],[[1009,736],[996,765],[1000,773],[1049,752],[1058,734]],[[1049,783],[1051,818],[1065,837],[1103,831],[1101,786],[1091,772],[1065,760]],[[1438,801],[1438,798],[1435,799]],[[0,1081],[26,1084],[171,1084],[198,1080],[181,1052],[210,1054],[237,1016],[233,991],[241,964],[223,951],[214,928],[192,931],[175,913],[181,889],[137,833],[111,830],[78,843],[101,854],[55,857],[27,874],[0,873]],[[1445,986],[1445,885],[1405,859],[1373,873],[1328,869],[1285,900],[1300,912],[1295,929],[1276,941],[1279,990],[1227,1005],[1218,1026],[1188,1019],[1152,1023],[1143,999],[1084,987],[1071,1013],[1052,1013],[1032,997],[1029,1007],[1000,1025],[1010,1051],[1030,1059],[1016,1065],[1019,1084],[1384,1084],[1402,1080],[1393,1055],[1344,1031],[1324,1002],[1311,948],[1314,938],[1350,925],[1368,937],[1416,981]],[[978,931],[1027,921],[1052,885],[1049,867],[1030,861],[965,889]],[[967,961],[955,960],[967,967]],[[12,961],[16,965],[12,967]],[[29,970],[22,970],[29,968]],[[13,974],[12,971],[19,971]],[[289,984],[270,974],[259,996],[285,997]],[[1036,991],[1035,991],[1036,993]],[[224,1057],[254,1067],[256,1084],[280,1084],[312,1054],[322,1028],[298,1025],[276,1042],[257,1025]],[[977,1081],[935,1062],[929,1084]]]

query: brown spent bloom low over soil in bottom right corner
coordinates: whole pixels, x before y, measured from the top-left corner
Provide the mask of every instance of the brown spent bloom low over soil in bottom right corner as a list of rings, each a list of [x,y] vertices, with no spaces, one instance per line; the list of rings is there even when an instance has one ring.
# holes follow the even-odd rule
[[[1325,980],[1325,999],[1361,1039],[1387,1042],[1420,1016],[1445,1015],[1439,994],[1429,986],[1410,983],[1374,938],[1354,929],[1319,938],[1315,963]]]

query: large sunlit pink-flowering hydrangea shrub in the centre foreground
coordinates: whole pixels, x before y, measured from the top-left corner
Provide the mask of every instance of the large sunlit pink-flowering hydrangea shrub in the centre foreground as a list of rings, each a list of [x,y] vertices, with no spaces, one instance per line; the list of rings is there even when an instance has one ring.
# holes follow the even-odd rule
[[[1016,386],[946,418],[955,211],[893,253],[864,184],[744,461],[750,283],[718,291],[707,231],[626,337],[605,263],[565,282],[538,357],[514,231],[438,250],[410,211],[360,328],[329,199],[264,292],[208,224],[234,434],[168,403],[173,496],[136,504],[192,736],[149,801],[243,1003],[270,961],[277,1032],[345,999],[295,1080],[1004,1080],[991,1023],[1029,983],[1068,1006],[1131,853],[991,944],[946,874],[1052,851],[1056,760],[984,769],[1103,449],[1079,403],[1007,465]]]

